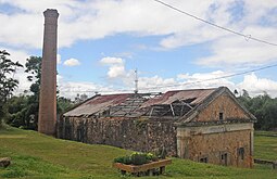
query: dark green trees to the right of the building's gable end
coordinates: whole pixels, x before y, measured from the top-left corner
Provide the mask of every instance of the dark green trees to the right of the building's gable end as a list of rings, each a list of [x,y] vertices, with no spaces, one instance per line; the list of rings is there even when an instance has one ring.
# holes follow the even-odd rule
[[[238,100],[257,118],[254,124],[259,130],[277,130],[277,99],[266,92],[263,95],[251,98],[247,90]]]

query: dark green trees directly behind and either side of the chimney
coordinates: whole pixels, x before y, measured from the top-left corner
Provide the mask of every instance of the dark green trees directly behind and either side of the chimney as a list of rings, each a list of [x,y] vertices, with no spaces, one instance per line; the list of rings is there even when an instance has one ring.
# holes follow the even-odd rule
[[[30,56],[26,60],[27,79],[33,84],[29,87],[30,94],[22,94],[12,97],[5,101],[5,117],[7,124],[21,127],[24,129],[37,130],[38,111],[39,111],[39,89],[41,77],[41,57]],[[56,112],[62,114],[73,106],[70,99],[58,97]]]

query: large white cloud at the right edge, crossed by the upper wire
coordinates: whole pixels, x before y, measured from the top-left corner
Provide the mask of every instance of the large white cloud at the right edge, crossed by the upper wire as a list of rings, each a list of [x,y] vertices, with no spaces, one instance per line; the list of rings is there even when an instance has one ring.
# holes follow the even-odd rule
[[[251,31],[267,31],[266,36],[263,33],[261,37],[264,39],[270,39],[268,41],[277,41],[276,30],[273,28],[261,27],[248,27],[245,34],[252,34]],[[257,34],[257,33],[256,33]],[[231,35],[221,38],[211,44],[210,56],[205,56],[198,60],[198,64],[205,66],[234,66],[241,65],[253,66],[261,64],[268,64],[277,60],[276,47],[268,46],[253,40],[247,41],[241,37],[234,37]]]

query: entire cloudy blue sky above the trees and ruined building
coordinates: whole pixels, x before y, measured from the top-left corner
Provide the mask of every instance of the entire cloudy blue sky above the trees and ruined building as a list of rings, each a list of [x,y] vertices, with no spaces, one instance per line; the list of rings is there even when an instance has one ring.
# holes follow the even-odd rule
[[[154,0],[0,0],[0,50],[22,64],[41,56],[42,13],[56,9],[60,95],[134,92],[137,69],[139,92],[226,86],[277,97],[277,46],[247,38],[277,43],[276,0],[163,2],[245,37]],[[29,89],[24,68],[14,77],[17,93]]]

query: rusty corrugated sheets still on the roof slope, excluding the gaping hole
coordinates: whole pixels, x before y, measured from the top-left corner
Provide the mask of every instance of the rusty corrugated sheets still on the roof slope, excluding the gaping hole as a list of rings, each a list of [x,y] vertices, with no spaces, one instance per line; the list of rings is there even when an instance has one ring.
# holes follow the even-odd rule
[[[176,101],[188,103],[194,106],[201,103],[216,89],[217,88],[168,91],[152,99],[143,98],[141,102],[137,101],[138,99],[136,95],[139,94],[135,93],[97,95],[74,110],[65,113],[64,116],[92,115],[98,112],[109,110],[109,107],[111,107],[110,112],[115,116],[116,114],[125,116],[125,113],[126,115],[130,115],[130,113],[134,113],[135,115],[143,115],[146,112],[140,112],[143,108],[150,108],[150,106],[153,105],[168,105]]]

